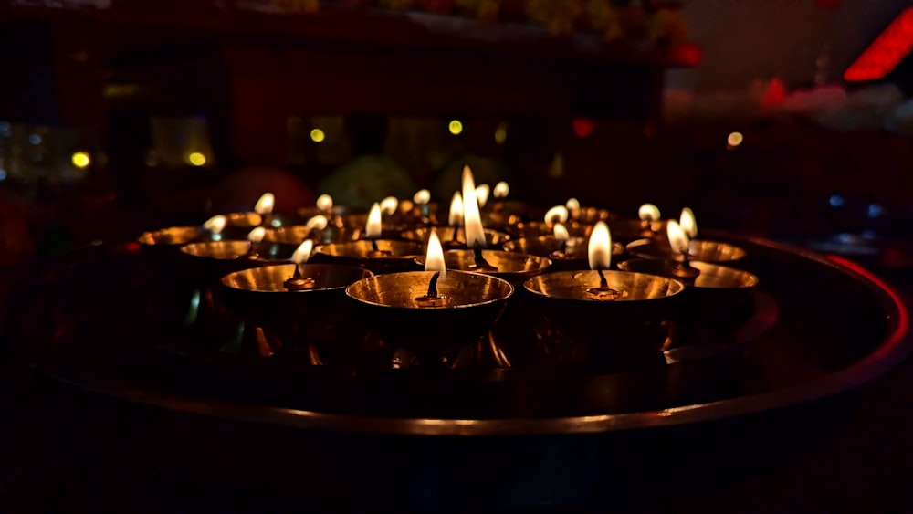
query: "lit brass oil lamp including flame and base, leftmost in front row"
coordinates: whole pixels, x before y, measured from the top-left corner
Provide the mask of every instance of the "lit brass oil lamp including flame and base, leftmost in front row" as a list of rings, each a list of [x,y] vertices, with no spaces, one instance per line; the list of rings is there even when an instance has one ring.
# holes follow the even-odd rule
[[[352,318],[354,306],[345,288],[372,273],[362,267],[307,264],[312,247],[310,240],[302,243],[292,264],[248,268],[220,279],[216,298],[245,323],[241,353],[299,354],[313,365],[346,362],[343,353],[353,349],[341,347],[355,338],[328,333],[345,330],[345,321]]]

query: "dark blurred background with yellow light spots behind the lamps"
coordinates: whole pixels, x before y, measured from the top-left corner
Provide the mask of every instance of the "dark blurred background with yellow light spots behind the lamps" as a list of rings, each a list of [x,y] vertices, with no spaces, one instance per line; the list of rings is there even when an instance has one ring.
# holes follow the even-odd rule
[[[5,0],[0,264],[201,223],[266,170],[314,197],[387,170],[446,201],[470,163],[533,204],[687,205],[906,267],[907,5]]]

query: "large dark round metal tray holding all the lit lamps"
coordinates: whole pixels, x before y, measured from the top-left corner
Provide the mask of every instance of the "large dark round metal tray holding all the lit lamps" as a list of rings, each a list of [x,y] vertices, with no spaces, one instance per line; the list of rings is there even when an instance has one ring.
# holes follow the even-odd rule
[[[478,343],[479,363],[453,372],[341,371],[197,351],[199,334],[187,341],[163,321],[174,310],[173,271],[135,245],[91,247],[53,263],[21,291],[21,312],[10,318],[37,368],[92,391],[195,414],[373,434],[602,433],[719,420],[848,390],[908,354],[901,300],[861,267],[714,236],[748,251],[738,266],[761,278],[753,312],[722,340],[687,341],[636,372],[543,359],[548,341],[530,329],[536,322],[510,307]]]

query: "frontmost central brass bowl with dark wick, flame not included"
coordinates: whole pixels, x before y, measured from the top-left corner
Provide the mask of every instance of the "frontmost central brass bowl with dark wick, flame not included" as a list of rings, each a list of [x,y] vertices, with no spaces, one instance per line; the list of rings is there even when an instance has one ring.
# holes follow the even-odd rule
[[[477,273],[447,271],[437,291],[450,298],[443,307],[419,307],[433,271],[411,271],[364,278],[346,288],[358,301],[368,326],[388,345],[439,362],[442,351],[477,341],[498,320],[514,288],[506,280]]]

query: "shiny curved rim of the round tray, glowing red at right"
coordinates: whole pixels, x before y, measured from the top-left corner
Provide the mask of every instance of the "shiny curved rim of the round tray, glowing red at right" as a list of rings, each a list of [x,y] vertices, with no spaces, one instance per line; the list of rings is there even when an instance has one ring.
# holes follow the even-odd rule
[[[618,414],[594,414],[555,418],[440,419],[374,417],[356,414],[332,414],[267,405],[238,404],[202,400],[173,393],[151,392],[117,379],[103,378],[85,371],[62,369],[53,359],[38,358],[30,365],[39,372],[94,393],[120,398],[132,403],[203,416],[217,416],[240,422],[283,425],[309,430],[333,430],[373,435],[433,436],[503,436],[503,435],[571,435],[599,434],[617,431],[690,425],[711,422],[745,414],[758,414],[837,393],[844,393],[887,372],[913,352],[909,333],[906,302],[897,291],[865,267],[844,257],[824,255],[790,244],[761,237],[737,236],[725,231],[705,233],[752,245],[782,251],[831,267],[860,281],[871,290],[887,313],[887,336],[875,351],[844,369],[826,373],[820,378],[773,391],[689,404],[666,409]]]

